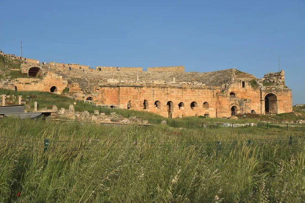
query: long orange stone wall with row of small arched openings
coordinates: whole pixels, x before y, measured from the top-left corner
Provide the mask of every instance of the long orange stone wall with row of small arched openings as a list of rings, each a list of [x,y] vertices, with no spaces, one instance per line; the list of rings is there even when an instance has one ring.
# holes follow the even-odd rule
[[[130,101],[132,110],[148,111],[168,117],[167,104],[171,101],[173,118],[204,114],[216,117],[216,92],[217,90],[212,88],[194,88],[190,86],[104,86],[99,89],[99,95],[95,99],[95,103],[124,105],[127,108],[127,104]],[[147,100],[146,109],[144,109],[144,100]],[[159,107],[156,107],[156,101],[160,102]],[[191,103],[193,101],[196,102],[197,106],[192,109]],[[204,102],[208,103],[208,108],[203,107]],[[180,108],[178,106],[179,103],[183,103]]]

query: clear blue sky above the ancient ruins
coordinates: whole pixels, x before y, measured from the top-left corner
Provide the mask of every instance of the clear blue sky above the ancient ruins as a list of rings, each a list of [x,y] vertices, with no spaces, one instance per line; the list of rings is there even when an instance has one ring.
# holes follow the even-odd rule
[[[185,65],[262,78],[285,70],[305,103],[305,0],[5,1],[0,49],[95,67]]]

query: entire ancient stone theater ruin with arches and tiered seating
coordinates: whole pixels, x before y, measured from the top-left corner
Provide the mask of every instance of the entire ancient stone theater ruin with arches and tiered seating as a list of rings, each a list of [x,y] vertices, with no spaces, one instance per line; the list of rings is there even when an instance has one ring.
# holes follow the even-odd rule
[[[197,73],[185,72],[184,66],[148,67],[147,71],[98,66],[91,70],[85,65],[27,59],[20,67],[30,77],[11,80],[2,88],[49,91],[102,107],[172,118],[292,112],[284,71],[258,79],[235,69]]]

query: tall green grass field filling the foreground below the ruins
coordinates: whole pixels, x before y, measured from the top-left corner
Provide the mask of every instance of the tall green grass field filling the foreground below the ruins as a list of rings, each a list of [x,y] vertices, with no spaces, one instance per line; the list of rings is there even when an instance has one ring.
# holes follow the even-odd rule
[[[305,199],[304,127],[177,129],[6,118],[0,129],[0,202]]]

